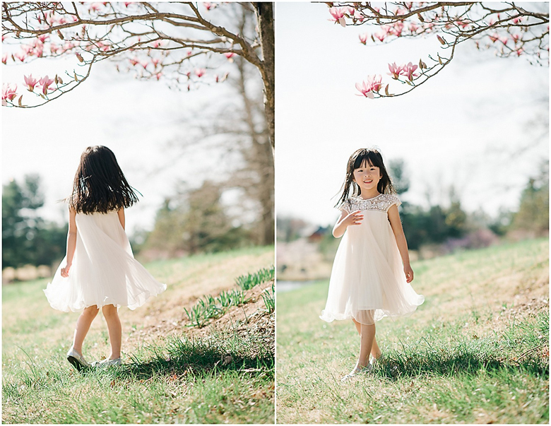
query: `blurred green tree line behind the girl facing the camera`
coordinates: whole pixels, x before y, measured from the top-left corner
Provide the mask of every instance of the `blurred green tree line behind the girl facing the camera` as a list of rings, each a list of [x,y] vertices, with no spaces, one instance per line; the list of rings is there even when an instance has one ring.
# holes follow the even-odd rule
[[[409,189],[409,179],[402,160],[389,162],[389,173],[398,194]],[[403,201],[401,220],[408,247],[439,247],[440,252],[457,248],[485,247],[499,237],[515,239],[540,237],[549,233],[549,162],[529,179],[523,190],[516,212],[502,211],[497,218],[490,218],[482,211],[467,213],[454,188],[449,189],[449,203],[425,208]],[[297,218],[278,218],[278,241],[290,242],[304,236],[309,224]],[[332,259],[339,239],[331,235],[332,225],[326,227],[319,249],[327,259]]]

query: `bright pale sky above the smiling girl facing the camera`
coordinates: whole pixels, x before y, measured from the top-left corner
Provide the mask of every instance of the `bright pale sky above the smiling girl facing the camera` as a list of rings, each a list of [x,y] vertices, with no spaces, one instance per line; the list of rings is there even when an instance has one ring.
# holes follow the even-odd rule
[[[400,83],[386,74],[388,64],[420,58],[429,64],[439,42],[364,46],[358,35],[365,25],[342,28],[329,18],[325,4],[276,4],[277,214],[332,225],[338,217],[332,197],[346,162],[357,148],[371,146],[387,165],[405,161],[406,201],[425,203],[429,191],[437,203],[454,184],[468,211],[495,215],[500,207],[516,208],[528,178],[548,158],[547,140],[535,143],[530,122],[548,114],[548,104],[537,101],[549,93],[549,69],[465,44],[421,88],[369,100],[356,96],[355,83],[377,73],[396,93]]]

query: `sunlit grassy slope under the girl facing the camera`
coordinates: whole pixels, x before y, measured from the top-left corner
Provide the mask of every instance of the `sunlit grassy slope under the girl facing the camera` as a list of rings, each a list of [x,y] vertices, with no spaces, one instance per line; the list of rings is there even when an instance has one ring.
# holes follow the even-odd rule
[[[359,337],[328,282],[277,294],[278,423],[548,423],[547,239],[413,264],[413,316],[377,324],[388,362],[350,381]]]

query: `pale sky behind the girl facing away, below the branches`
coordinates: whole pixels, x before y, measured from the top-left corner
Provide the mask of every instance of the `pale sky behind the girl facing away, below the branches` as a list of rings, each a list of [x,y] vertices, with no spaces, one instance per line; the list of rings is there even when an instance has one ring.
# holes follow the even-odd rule
[[[16,83],[23,102],[34,96],[25,90],[23,76],[64,75],[77,68],[76,59],[43,59],[30,64],[1,66],[2,81]],[[71,93],[42,107],[28,110],[2,107],[2,183],[38,173],[45,190],[40,213],[49,220],[67,220],[66,205],[57,203],[71,193],[73,177],[83,150],[105,145],[117,157],[126,179],[143,194],[126,212],[129,234],[151,229],[155,213],[177,184],[197,187],[203,179],[221,181],[208,174],[208,165],[223,153],[211,148],[182,149],[172,142],[186,136],[184,119],[199,120],[201,110],[220,102],[225,83],[204,85],[190,92],[170,90],[162,81],[137,81],[117,73],[107,61],[96,64],[88,81]]]

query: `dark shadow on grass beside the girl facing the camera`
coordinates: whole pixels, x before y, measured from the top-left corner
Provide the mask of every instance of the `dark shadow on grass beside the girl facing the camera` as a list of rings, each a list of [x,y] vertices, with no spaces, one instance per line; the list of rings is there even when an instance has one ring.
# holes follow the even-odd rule
[[[497,351],[499,352],[499,351]],[[484,372],[523,372],[549,378],[549,364],[533,355],[521,360],[496,356],[460,343],[454,348],[437,350],[395,350],[385,354],[383,362],[374,370],[376,374],[388,379],[400,377],[421,377],[428,375],[450,376],[455,374],[478,375]]]

